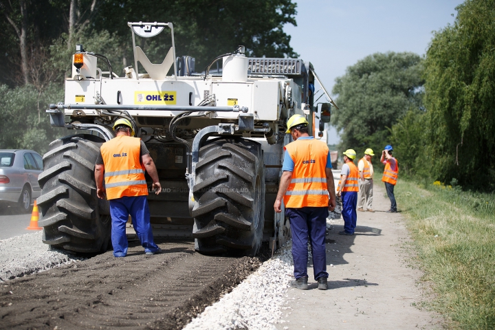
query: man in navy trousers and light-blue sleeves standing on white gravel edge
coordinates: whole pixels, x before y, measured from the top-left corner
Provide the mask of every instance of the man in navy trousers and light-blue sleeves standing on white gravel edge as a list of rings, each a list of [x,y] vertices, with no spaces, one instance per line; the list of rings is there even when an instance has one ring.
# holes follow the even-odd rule
[[[331,159],[327,144],[309,136],[304,115],[293,115],[287,121],[287,132],[294,142],[284,147],[283,174],[274,203],[275,212],[289,218],[292,232],[294,277],[291,286],[309,289],[307,274],[308,239],[313,253],[314,278],[318,289],[327,289],[327,253],[325,230],[328,211],[336,206]]]

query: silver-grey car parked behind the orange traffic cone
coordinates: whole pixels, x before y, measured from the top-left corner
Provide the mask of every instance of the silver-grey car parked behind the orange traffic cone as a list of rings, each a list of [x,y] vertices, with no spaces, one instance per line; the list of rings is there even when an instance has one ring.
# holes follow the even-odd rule
[[[30,212],[41,195],[38,175],[42,171],[43,158],[36,151],[0,149],[0,203]]]

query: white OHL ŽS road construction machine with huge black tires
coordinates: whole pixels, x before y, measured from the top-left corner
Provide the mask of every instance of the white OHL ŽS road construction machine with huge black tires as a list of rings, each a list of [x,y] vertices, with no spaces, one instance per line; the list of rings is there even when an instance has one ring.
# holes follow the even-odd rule
[[[109,248],[109,203],[96,197],[94,164],[100,145],[114,136],[113,122],[126,118],[150,151],[163,188],[148,195],[155,236],[194,238],[196,250],[205,254],[252,256],[262,241],[278,248],[289,233],[284,213],[272,207],[283,146],[290,142],[287,118],[306,115],[314,133],[318,111],[311,88],[318,76],[311,64],[248,58],[240,46],[197,73],[195,58],[176,57],[172,23],[128,25],[134,66],[120,77],[105,56],[77,45],[65,102],[47,110],[52,126],[87,133],[55,140],[43,156],[43,192],[37,199],[43,243],[81,253]],[[153,64],[136,36],[149,38],[165,29],[170,50],[161,64]],[[96,66],[97,58],[108,72]],[[329,121],[331,104],[321,104],[320,122]],[[151,178],[146,179],[151,190]]]

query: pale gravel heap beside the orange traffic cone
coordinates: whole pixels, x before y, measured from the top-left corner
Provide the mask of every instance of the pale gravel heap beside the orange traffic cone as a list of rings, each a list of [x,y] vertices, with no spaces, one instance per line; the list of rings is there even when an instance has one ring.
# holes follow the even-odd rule
[[[50,249],[41,241],[41,234],[32,232],[0,241],[0,282],[85,260]]]

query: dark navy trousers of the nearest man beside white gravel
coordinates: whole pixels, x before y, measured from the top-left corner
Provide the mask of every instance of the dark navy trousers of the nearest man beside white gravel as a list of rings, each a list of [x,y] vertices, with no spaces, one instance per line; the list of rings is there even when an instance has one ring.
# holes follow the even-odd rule
[[[315,280],[320,277],[328,277],[327,254],[325,252],[328,208],[326,206],[322,208],[286,208],[285,216],[289,218],[291,225],[294,277],[308,276],[308,239],[313,253]]]

